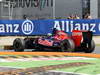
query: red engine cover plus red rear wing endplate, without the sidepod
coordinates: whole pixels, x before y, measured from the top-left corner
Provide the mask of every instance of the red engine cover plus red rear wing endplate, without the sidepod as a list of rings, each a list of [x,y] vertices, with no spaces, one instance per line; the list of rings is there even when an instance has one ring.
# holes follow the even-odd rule
[[[71,36],[66,34],[64,31],[57,31],[54,38],[57,40],[72,39],[75,43],[75,46],[79,47],[81,45],[81,41],[83,39],[82,36],[83,36],[82,31],[79,31],[79,30],[73,30]]]

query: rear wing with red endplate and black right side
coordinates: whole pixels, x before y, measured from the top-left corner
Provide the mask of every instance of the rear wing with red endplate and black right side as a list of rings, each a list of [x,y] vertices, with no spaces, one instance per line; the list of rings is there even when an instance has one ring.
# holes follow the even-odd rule
[[[76,46],[80,46],[82,42],[90,43],[92,40],[93,33],[92,31],[86,30],[73,30],[72,39]]]

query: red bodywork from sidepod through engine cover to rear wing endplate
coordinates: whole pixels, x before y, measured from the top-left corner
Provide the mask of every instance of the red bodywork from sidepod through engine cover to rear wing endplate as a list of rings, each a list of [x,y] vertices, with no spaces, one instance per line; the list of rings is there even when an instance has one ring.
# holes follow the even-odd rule
[[[51,38],[53,40],[51,40]],[[71,36],[64,31],[56,31],[56,33],[50,38],[40,38],[38,43],[45,46],[53,46],[54,42],[60,42],[65,39],[72,39],[75,43],[75,47],[79,47],[82,41],[82,31],[73,30]]]

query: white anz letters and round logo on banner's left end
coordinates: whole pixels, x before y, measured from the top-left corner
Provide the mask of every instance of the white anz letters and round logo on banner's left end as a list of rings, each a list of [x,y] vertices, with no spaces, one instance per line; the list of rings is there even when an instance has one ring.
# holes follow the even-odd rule
[[[22,25],[21,24],[0,24],[0,33],[15,33],[19,34],[20,32],[25,35],[29,35],[34,30],[34,24],[31,20],[25,20]]]

